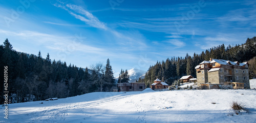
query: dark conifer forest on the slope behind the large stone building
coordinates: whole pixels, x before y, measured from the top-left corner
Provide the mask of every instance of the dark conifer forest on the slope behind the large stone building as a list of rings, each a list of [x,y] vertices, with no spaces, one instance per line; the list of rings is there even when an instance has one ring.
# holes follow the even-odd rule
[[[212,47],[202,51],[200,54],[194,53],[193,56],[186,54],[185,57],[171,57],[165,61],[157,61],[156,65],[150,66],[145,74],[144,79],[139,79],[138,82],[145,82],[149,87],[156,78],[165,81],[167,84],[172,85],[178,83],[179,78],[185,75],[192,75],[196,77],[195,67],[199,65],[203,60],[215,59],[226,59],[230,61],[239,61],[242,63],[248,61],[256,56],[256,37],[248,38],[246,43],[242,45],[236,45],[231,47],[228,45],[225,47],[224,44],[217,47]],[[255,73],[255,60],[250,61],[251,67],[249,66],[250,78],[256,77]]]

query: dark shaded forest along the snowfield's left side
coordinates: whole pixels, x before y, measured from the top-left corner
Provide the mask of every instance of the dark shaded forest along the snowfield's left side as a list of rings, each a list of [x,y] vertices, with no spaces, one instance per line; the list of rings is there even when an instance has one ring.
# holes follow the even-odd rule
[[[66,98],[116,87],[109,59],[105,66],[96,63],[90,69],[82,69],[52,61],[49,53],[42,58],[40,51],[34,55],[12,48],[8,39],[0,45],[0,88],[4,90],[4,66],[8,66],[9,99],[13,103]],[[3,103],[3,91],[0,93]]]

